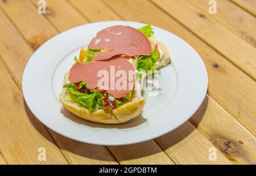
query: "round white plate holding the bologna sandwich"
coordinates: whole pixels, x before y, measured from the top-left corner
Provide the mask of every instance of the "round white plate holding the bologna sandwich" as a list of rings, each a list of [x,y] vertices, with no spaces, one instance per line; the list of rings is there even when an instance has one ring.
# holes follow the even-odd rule
[[[28,107],[47,127],[68,138],[99,145],[125,145],[157,138],[187,121],[199,108],[207,91],[207,71],[199,54],[176,35],[154,27],[154,36],[170,50],[172,63],[161,69],[160,91],[146,95],[140,117],[119,125],[85,121],[59,102],[63,76],[79,56],[81,46],[97,31],[112,25],[142,27],[143,23],[111,21],[81,25],[43,44],[24,70],[22,90]],[[175,137],[174,137],[175,138]]]

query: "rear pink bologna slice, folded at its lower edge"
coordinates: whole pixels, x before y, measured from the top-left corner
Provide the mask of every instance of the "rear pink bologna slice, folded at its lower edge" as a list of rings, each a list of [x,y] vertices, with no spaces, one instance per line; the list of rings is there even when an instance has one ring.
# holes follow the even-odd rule
[[[94,57],[94,61],[109,59],[119,54],[130,57],[151,54],[151,44],[148,38],[138,29],[124,25],[102,29],[90,41],[89,48],[104,50]]]

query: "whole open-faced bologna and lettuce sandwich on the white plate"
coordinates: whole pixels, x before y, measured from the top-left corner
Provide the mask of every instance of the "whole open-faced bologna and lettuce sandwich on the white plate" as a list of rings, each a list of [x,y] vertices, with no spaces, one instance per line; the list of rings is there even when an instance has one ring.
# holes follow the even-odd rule
[[[115,25],[97,33],[64,76],[60,102],[73,114],[98,123],[124,123],[143,110],[142,76],[171,61],[151,25]]]

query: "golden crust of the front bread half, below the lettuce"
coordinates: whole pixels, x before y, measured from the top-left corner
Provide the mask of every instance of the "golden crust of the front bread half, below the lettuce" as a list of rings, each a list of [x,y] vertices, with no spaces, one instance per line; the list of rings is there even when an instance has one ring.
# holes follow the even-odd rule
[[[63,84],[66,83],[69,83],[68,73],[64,76]],[[69,89],[63,88],[63,91],[60,94],[60,102],[66,109],[78,117],[88,121],[106,124],[125,123],[135,117],[138,117],[138,115],[142,113],[146,101],[145,98],[142,97],[132,97],[134,101],[131,100],[131,102],[127,102],[119,108],[111,111],[104,109],[89,111],[77,104],[75,101],[72,101],[71,96]]]

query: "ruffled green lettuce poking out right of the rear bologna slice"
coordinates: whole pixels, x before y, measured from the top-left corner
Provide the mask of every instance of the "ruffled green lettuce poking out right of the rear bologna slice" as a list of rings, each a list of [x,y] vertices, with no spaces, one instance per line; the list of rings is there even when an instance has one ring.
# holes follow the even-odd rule
[[[142,71],[151,70],[155,72],[156,61],[159,57],[158,51],[152,49],[151,55],[141,55],[138,57],[137,70],[141,73]]]

